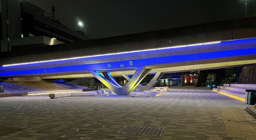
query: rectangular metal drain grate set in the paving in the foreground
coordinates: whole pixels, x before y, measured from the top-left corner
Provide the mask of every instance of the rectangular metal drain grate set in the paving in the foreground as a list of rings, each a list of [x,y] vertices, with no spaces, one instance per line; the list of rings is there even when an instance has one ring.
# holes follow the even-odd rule
[[[147,136],[157,136],[161,137],[164,132],[164,128],[152,128],[152,127],[139,127],[139,126],[124,126],[117,133],[125,134],[140,134]]]

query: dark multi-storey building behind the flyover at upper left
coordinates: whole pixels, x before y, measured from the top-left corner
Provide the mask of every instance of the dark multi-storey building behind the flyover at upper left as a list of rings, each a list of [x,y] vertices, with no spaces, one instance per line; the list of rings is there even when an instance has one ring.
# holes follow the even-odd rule
[[[46,17],[43,9],[28,1],[2,0],[1,8],[1,52],[85,40],[83,32],[62,25],[54,15]]]

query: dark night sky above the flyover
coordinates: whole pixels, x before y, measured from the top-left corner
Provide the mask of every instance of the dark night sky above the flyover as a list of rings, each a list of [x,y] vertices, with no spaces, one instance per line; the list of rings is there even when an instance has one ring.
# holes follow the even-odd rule
[[[27,1],[48,13],[51,13],[51,6],[55,6],[56,18],[73,30],[84,31],[77,25],[78,20],[83,21],[87,26],[87,36],[93,39],[245,16],[245,0]]]

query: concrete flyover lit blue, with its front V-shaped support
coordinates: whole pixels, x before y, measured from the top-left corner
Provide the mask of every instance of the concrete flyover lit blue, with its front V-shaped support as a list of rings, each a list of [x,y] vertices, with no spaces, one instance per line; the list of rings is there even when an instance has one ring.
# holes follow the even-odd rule
[[[256,18],[252,17],[46,46],[36,51],[3,52],[0,77],[96,77],[109,88],[117,88],[117,94],[127,95],[152,72],[255,64],[255,37]],[[123,91],[124,87],[112,81],[111,72],[137,77],[133,76],[129,82],[133,84]]]

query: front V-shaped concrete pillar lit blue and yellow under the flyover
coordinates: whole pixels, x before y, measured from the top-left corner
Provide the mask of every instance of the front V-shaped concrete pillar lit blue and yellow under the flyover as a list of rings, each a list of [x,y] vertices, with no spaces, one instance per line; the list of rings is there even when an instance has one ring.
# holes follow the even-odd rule
[[[138,69],[133,74],[132,78],[129,82],[121,87],[109,74],[108,72],[102,72],[104,76],[102,76],[97,71],[89,71],[93,76],[95,76],[99,81],[101,81],[104,85],[110,88],[117,95],[128,95],[132,90],[139,85],[139,83],[145,78],[146,75],[151,71],[151,69],[146,69],[145,66],[139,66]]]

